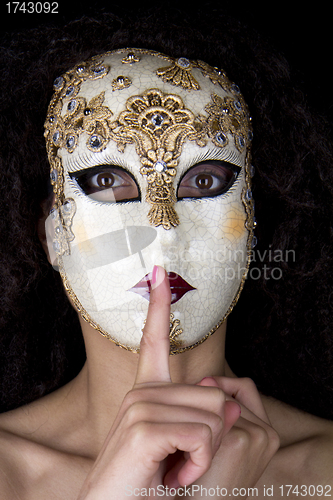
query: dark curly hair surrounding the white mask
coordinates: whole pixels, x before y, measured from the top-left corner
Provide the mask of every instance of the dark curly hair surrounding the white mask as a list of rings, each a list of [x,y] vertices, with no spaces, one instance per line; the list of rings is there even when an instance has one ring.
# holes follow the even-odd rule
[[[121,18],[101,13],[5,36],[1,49],[1,411],[30,402],[81,369],[76,313],[37,235],[50,201],[43,123],[53,80],[78,62],[144,47],[223,68],[254,128],[258,245],[228,320],[227,359],[267,395],[333,418],[332,148],[289,66],[251,29],[219,10]]]

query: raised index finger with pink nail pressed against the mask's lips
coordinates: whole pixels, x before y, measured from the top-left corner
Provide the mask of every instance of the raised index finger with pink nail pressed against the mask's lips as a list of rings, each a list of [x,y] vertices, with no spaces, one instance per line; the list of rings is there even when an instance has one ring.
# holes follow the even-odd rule
[[[171,292],[168,275],[154,266],[148,315],[140,344],[135,384],[171,382],[170,353]]]

